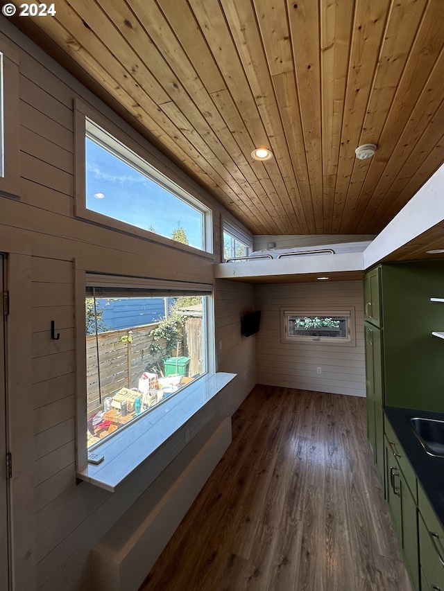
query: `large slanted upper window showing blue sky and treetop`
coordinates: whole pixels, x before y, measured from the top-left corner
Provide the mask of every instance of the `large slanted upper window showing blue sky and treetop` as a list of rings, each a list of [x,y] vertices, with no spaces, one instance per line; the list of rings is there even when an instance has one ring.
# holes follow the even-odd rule
[[[84,123],[86,211],[81,204],[78,211],[210,251],[210,209],[92,120]]]

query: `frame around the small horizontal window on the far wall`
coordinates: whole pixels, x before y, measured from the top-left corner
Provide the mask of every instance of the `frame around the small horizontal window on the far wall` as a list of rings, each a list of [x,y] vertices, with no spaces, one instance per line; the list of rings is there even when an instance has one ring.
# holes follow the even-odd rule
[[[291,337],[287,332],[289,316],[346,316],[348,317],[348,339],[336,337]],[[355,306],[289,306],[280,308],[280,340],[285,344],[303,344],[303,346],[332,345],[332,346],[356,346],[356,311]]]

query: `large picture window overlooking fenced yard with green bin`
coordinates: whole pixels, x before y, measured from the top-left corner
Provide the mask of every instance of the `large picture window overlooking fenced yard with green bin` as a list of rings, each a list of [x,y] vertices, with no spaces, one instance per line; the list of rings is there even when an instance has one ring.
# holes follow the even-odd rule
[[[87,448],[92,450],[209,371],[211,292],[88,283]]]

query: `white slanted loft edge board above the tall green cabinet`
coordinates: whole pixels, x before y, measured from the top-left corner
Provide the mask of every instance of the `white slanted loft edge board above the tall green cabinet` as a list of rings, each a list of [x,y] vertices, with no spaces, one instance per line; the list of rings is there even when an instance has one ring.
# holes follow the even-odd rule
[[[364,250],[364,269],[444,220],[444,164]]]

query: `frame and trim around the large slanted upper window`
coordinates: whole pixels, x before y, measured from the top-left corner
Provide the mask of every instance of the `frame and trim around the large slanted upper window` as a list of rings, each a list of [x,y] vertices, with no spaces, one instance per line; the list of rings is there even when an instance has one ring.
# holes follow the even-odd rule
[[[171,238],[160,236],[160,234],[142,228],[137,228],[132,224],[115,220],[108,215],[103,215],[87,208],[85,167],[87,120],[96,127],[96,133],[94,133],[94,136],[99,140],[101,145],[105,145],[105,143],[108,142],[110,145],[114,144],[114,153],[117,151],[119,145],[123,146],[126,150],[126,158],[124,157],[123,159],[126,160],[128,164],[135,166],[136,170],[141,171],[154,182],[166,188],[167,191],[203,213],[203,249],[184,245]],[[112,152],[113,150],[110,151]],[[133,155],[133,159],[131,155]],[[139,159],[142,159],[144,162],[144,166],[142,166],[143,170],[140,166]],[[77,218],[94,222],[103,227],[116,229],[128,233],[131,236],[146,238],[153,242],[158,242],[185,252],[192,252],[193,254],[205,256],[205,258],[214,259],[214,256],[212,256],[212,210],[210,207],[195,195],[196,192],[191,186],[187,185],[187,183],[178,177],[178,175],[174,175],[167,166],[155,158],[151,152],[144,149],[141,144],[133,139],[133,137],[126,134],[126,132],[123,132],[120,127],[111,123],[108,118],[105,118],[99,114],[99,112],[92,109],[92,107],[89,107],[83,103],[83,101],[78,100],[78,98],[74,100],[74,184],[74,215],[76,215]],[[209,257],[209,255],[211,256]]]

